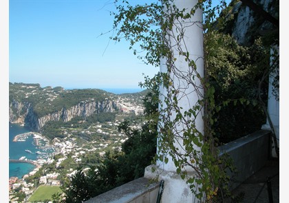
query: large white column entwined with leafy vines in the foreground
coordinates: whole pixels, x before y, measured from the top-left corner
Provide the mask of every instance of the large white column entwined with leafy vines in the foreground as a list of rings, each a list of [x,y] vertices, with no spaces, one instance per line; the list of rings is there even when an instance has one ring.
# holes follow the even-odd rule
[[[175,0],[174,4],[176,8],[182,10],[186,9],[186,12],[191,12],[191,8],[195,6],[197,0]],[[164,8],[165,10],[166,8]],[[189,58],[193,60],[197,67],[197,73],[200,74],[201,77],[204,76],[204,49],[203,49],[203,17],[202,10],[197,9],[193,17],[191,19],[186,19],[186,21],[175,21],[173,25],[173,29],[169,34],[167,34],[167,39],[170,42],[170,47],[173,52],[173,58],[175,58],[175,67],[178,68],[178,72],[171,72],[170,78],[173,81],[171,84],[171,88],[179,89],[180,93],[178,94],[178,106],[182,107],[182,113],[184,111],[188,111],[191,109],[199,99],[202,99],[204,95],[204,89],[200,83],[200,79],[195,76],[195,72],[192,70],[192,67],[188,65],[188,62],[185,61],[184,56],[180,56],[179,48],[184,52],[189,52]],[[184,37],[181,41],[177,41],[178,34],[180,34],[180,30],[184,31]],[[177,45],[178,44],[178,45]],[[167,72],[167,61],[165,58],[162,58],[160,61],[160,72]],[[180,75],[179,75],[180,74]],[[188,83],[187,78],[182,78],[183,76],[191,78],[191,84]],[[195,89],[193,84],[199,86],[200,88]],[[170,87],[169,87],[170,88]],[[170,90],[170,89],[169,89]],[[160,107],[166,108],[166,104],[164,100],[169,91],[165,87],[160,87]],[[170,119],[174,120],[175,112],[171,111]],[[204,121],[202,118],[202,111],[198,114],[197,118],[195,118],[195,125],[198,131],[204,134]],[[191,119],[191,118],[187,118]],[[162,125],[162,123],[160,123]],[[185,128],[184,125],[176,124],[176,129]],[[178,135],[182,136],[182,133]],[[180,145],[182,145],[182,139],[179,140]],[[160,140],[158,140],[158,143]],[[175,144],[178,145],[178,144]],[[181,149],[180,146],[175,146]],[[195,146],[197,149],[197,146]],[[182,153],[182,151],[180,151]],[[157,153],[160,153],[159,151]],[[197,202],[195,200],[195,195],[191,192],[189,186],[186,184],[185,180],[180,178],[176,171],[175,164],[173,163],[170,157],[169,162],[167,164],[165,162],[157,162],[156,172],[151,172],[151,167],[147,167],[144,177],[147,178],[156,178],[158,176],[159,180],[164,180],[164,193],[162,194],[162,202],[165,203],[178,203],[178,202]],[[186,169],[186,171],[190,172],[190,175],[195,175],[192,168]]]

